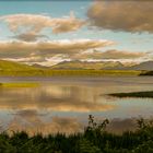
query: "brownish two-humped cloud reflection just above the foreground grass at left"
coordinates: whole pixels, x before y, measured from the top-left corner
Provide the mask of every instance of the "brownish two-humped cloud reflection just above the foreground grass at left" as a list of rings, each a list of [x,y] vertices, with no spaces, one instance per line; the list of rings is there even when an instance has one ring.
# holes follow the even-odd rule
[[[30,134],[36,132],[47,133],[74,133],[82,130],[82,126],[76,118],[71,117],[50,117],[49,121],[45,121],[40,114],[36,110],[17,111],[8,125],[8,131],[27,131]]]

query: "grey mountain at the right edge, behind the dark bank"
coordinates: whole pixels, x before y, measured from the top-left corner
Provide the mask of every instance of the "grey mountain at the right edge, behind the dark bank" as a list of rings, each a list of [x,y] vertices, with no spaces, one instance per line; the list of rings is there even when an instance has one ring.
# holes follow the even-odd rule
[[[153,61],[141,62],[139,64],[129,67],[128,69],[131,69],[131,70],[148,70],[148,71],[152,71],[153,70]]]

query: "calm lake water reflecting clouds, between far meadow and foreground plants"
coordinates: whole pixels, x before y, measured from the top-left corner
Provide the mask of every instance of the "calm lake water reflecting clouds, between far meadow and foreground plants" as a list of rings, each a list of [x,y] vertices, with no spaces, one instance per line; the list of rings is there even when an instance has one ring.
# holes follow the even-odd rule
[[[90,114],[113,120],[108,130],[133,129],[133,118],[152,117],[153,98],[116,98],[108,93],[153,91],[152,76],[0,78],[39,82],[38,87],[0,89],[0,130],[78,132]]]

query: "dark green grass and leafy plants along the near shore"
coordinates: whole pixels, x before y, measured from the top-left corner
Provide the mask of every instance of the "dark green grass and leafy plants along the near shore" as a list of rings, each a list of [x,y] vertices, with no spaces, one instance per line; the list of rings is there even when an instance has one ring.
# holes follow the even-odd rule
[[[0,134],[1,153],[153,153],[153,120],[138,120],[138,129],[114,134],[106,132],[109,121],[97,123],[90,115],[83,133],[35,134],[14,132]]]

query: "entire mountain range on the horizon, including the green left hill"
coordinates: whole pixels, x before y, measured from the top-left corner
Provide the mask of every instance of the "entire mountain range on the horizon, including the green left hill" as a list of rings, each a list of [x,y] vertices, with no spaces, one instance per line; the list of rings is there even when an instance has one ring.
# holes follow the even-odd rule
[[[38,70],[38,69],[69,69],[69,70],[146,70],[153,71],[153,61],[145,61],[141,63],[121,63],[119,61],[62,61],[55,66],[45,67],[38,63],[33,66],[19,63],[14,61],[0,60],[0,70]]]

